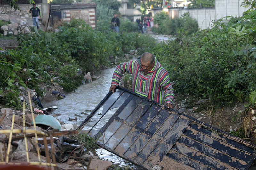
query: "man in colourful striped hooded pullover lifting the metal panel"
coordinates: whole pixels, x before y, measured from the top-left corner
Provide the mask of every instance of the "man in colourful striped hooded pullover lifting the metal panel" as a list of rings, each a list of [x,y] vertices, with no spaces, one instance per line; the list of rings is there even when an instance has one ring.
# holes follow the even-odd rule
[[[173,108],[173,88],[168,72],[151,53],[143,53],[139,58],[121,63],[113,73],[109,91],[115,92],[122,75],[132,74],[132,91]]]

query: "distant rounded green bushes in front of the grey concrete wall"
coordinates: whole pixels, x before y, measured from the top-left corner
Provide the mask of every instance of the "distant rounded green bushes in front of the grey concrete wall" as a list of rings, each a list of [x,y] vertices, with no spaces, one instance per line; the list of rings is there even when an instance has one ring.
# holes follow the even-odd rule
[[[190,17],[189,12],[184,13],[180,18],[172,19],[162,11],[156,14],[153,21],[158,27],[153,27],[152,31],[158,34],[176,35],[179,32],[192,34],[198,30],[198,23],[196,19]]]

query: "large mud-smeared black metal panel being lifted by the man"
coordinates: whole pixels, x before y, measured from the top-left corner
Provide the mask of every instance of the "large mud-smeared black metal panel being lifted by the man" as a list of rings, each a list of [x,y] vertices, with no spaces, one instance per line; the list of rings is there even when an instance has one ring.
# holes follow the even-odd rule
[[[248,169],[255,159],[255,145],[121,87],[109,92],[78,129],[96,113],[88,132],[96,144],[146,169]]]

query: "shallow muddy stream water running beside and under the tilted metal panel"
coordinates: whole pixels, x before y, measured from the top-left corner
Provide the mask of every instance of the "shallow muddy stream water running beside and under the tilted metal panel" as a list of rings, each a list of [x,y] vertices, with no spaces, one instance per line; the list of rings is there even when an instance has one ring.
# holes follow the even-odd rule
[[[54,110],[51,113],[52,115],[60,113],[61,115],[56,117],[58,120],[61,120],[65,124],[75,123],[77,124],[77,126],[79,126],[87,117],[87,115],[89,115],[92,110],[100,103],[100,101],[108,94],[114,70],[114,68],[102,70],[99,79],[92,81],[92,83],[86,83],[84,85],[81,85],[80,87],[78,87],[76,92],[70,92],[66,94],[66,97],[64,99],[44,103],[44,108],[54,105],[58,106],[59,108]],[[113,112],[114,111],[115,110],[113,110]],[[81,112],[85,112],[85,114],[81,114]],[[75,116],[74,114],[80,115],[82,117]],[[110,114],[109,116],[104,116],[104,120],[98,123],[100,126],[95,127],[94,129],[99,130],[108,121],[111,115],[112,114]],[[69,121],[69,118],[74,117],[77,117],[77,121]],[[92,119],[92,122],[89,122],[83,130],[90,129],[91,126],[95,123],[96,119]],[[124,159],[104,149],[98,149],[97,153],[101,159],[108,159],[109,161],[112,161],[114,163],[120,163],[121,165],[126,166],[128,165],[127,163],[125,163]],[[131,164],[129,165],[131,167],[134,167]]]

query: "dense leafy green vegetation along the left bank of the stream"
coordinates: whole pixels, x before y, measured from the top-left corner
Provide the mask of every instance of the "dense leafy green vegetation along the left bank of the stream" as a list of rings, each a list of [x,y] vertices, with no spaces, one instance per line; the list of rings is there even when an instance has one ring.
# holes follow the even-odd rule
[[[119,34],[110,28],[93,30],[81,20],[64,24],[58,33],[39,30],[38,34],[21,34],[18,40],[19,50],[0,53],[0,93],[8,91],[16,98],[20,86],[35,89],[42,96],[43,82],[74,91],[82,84],[85,72],[93,74],[102,66],[111,66],[116,56],[123,57],[131,49],[149,48],[156,43],[152,37],[139,33]],[[11,104],[17,107],[18,100],[4,100],[3,105]]]

